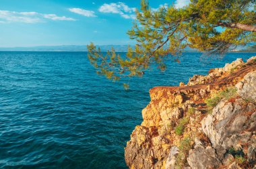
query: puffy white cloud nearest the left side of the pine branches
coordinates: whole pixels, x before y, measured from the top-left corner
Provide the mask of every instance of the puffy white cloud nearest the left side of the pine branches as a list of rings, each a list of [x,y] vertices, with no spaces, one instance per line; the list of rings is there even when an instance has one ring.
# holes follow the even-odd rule
[[[101,13],[115,13],[125,19],[135,19],[135,7],[129,7],[125,3],[104,3],[99,9]]]

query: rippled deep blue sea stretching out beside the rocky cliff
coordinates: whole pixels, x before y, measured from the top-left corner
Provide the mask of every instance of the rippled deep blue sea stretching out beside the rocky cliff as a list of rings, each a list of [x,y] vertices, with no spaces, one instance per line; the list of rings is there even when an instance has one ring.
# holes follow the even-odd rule
[[[0,168],[127,168],[124,147],[155,86],[179,85],[236,58],[184,53],[165,72],[110,82],[86,52],[0,52]]]

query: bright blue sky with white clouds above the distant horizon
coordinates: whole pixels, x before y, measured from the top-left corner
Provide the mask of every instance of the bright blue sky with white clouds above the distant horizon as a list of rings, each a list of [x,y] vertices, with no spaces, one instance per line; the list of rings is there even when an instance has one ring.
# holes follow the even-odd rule
[[[183,7],[189,0],[149,0]],[[140,0],[0,0],[0,47],[133,44]]]

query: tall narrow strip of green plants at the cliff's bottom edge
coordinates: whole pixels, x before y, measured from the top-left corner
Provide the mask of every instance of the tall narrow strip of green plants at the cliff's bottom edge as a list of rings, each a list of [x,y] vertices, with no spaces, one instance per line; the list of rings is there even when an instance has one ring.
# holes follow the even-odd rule
[[[189,150],[191,150],[191,138],[186,137],[181,140],[181,144],[179,146],[179,155],[177,156],[177,160],[175,166],[177,168],[183,168],[183,166],[187,165],[187,154],[189,154]]]

